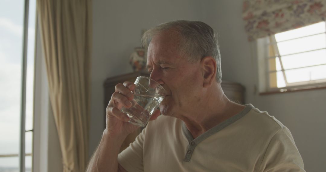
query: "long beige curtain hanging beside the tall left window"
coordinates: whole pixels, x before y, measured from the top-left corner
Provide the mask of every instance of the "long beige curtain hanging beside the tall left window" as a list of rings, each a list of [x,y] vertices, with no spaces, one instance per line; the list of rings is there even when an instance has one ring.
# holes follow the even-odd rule
[[[88,160],[91,3],[91,0],[37,0],[64,172],[83,172]]]

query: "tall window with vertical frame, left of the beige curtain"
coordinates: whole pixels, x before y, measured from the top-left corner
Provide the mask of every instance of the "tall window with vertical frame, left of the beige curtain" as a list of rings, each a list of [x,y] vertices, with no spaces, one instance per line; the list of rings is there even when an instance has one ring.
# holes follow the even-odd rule
[[[36,0],[0,2],[0,171],[31,172]]]

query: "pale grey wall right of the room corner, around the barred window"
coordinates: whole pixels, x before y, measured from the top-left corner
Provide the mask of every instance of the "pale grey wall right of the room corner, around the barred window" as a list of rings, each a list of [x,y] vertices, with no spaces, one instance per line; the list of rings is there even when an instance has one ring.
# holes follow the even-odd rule
[[[241,14],[243,1],[209,2],[203,6],[203,22],[219,33],[222,80],[243,84],[246,103],[267,111],[290,129],[306,171],[325,171],[326,89],[258,95],[256,42],[247,41]]]

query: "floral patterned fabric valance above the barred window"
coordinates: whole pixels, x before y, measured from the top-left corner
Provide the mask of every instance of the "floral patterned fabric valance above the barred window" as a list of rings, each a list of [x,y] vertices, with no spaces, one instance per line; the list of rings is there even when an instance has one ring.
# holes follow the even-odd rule
[[[326,0],[245,0],[248,40],[296,29],[326,18]]]

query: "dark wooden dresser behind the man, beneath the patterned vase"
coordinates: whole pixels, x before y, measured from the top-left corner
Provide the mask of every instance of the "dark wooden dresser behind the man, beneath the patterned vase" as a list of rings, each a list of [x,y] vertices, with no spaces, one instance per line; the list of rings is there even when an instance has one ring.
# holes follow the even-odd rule
[[[120,75],[116,77],[111,77],[105,80],[104,82],[104,107],[106,108],[109,104],[109,101],[111,99],[111,95],[114,92],[114,87],[118,83],[123,83],[125,81],[134,82],[135,79],[138,76],[146,76],[149,77],[148,72],[134,72],[129,73],[125,75]],[[238,83],[235,82],[229,82],[229,81],[222,81],[221,83],[222,89],[225,93],[225,95],[232,101],[244,104],[244,87]],[[104,112],[105,112],[104,108]],[[105,123],[105,116],[104,116],[104,126],[106,126]],[[129,134],[126,137],[126,140],[124,141],[123,145],[120,148],[120,151],[126,149],[131,142],[133,142],[136,138],[136,136],[141,132],[141,128],[139,128],[134,133]]]

